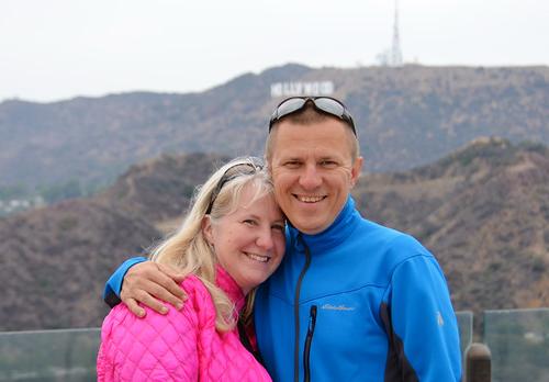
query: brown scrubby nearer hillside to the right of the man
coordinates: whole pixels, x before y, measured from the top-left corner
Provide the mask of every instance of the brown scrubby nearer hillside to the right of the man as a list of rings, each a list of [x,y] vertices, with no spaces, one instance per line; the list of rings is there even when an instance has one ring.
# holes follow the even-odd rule
[[[436,254],[459,310],[549,306],[549,150],[481,138],[355,190],[371,220]]]

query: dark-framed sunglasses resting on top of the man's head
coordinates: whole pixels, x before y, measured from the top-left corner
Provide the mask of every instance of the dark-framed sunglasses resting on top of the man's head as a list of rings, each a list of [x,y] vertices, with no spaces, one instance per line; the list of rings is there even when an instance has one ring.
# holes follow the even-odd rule
[[[332,97],[291,97],[282,102],[274,109],[274,112],[271,115],[271,120],[269,122],[269,133],[271,132],[272,125],[278,121],[283,119],[287,115],[298,113],[303,110],[306,103],[311,101],[316,110],[320,112],[333,115],[338,117],[339,120],[345,121],[355,136],[357,136],[357,131],[355,128],[355,122],[352,121],[352,116],[345,105]]]

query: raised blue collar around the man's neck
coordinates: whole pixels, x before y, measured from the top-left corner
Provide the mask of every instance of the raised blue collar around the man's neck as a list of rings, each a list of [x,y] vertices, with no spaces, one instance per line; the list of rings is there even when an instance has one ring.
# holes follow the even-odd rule
[[[290,241],[293,246],[298,243],[298,236],[301,235],[311,252],[314,255],[317,251],[334,248],[352,233],[356,228],[355,221],[360,220],[359,213],[355,210],[355,201],[349,195],[341,212],[337,215],[336,220],[329,227],[316,235],[307,235],[299,232],[294,226],[289,224]]]

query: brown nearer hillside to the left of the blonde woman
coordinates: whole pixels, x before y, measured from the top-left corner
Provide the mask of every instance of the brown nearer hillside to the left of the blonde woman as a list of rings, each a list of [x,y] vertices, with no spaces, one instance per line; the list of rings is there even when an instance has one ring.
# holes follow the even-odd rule
[[[221,157],[163,156],[132,167],[103,194],[0,218],[0,330],[98,326],[107,278],[181,215]],[[192,186],[191,183],[192,182]]]

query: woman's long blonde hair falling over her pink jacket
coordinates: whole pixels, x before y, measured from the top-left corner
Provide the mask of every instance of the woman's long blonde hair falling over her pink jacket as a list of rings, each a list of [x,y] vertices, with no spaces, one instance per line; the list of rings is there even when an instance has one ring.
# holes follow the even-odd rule
[[[231,177],[227,177],[227,171]],[[202,187],[197,188],[190,211],[178,232],[158,245],[150,256],[153,261],[172,266],[183,274],[192,273],[204,283],[215,306],[215,327],[220,332],[235,327],[235,306],[225,292],[215,285],[217,260],[213,247],[202,233],[202,222],[208,210],[211,210],[209,215],[212,223],[236,211],[248,186],[254,187],[254,195],[246,203],[273,194],[272,182],[258,158],[236,158],[220,168]],[[250,318],[254,297],[255,290],[246,296],[242,317],[245,322]]]

